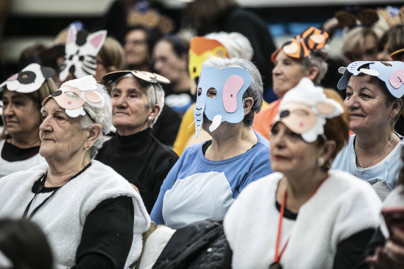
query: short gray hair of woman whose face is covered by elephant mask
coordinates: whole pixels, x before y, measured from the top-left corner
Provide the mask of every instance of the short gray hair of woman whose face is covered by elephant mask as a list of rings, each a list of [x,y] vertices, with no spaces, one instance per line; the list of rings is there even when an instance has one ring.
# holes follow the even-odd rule
[[[251,75],[251,84],[247,88],[246,92],[243,94],[243,98],[251,97],[254,100],[254,104],[250,112],[244,116],[243,123],[244,126],[250,127],[252,123],[254,123],[254,113],[258,113],[261,109],[263,102],[263,84],[262,77],[259,73],[257,67],[251,63],[249,60],[241,59],[241,58],[218,58],[213,57],[204,61],[205,67],[216,67],[219,69],[223,69],[226,67],[241,67],[246,69]]]

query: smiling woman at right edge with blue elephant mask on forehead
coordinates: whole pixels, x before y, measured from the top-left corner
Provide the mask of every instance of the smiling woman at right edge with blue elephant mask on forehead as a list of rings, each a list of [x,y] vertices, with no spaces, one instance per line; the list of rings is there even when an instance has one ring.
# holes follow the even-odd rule
[[[402,69],[402,62],[365,61],[339,69],[343,77],[337,87],[346,89],[344,103],[355,135],[349,137],[332,168],[347,171],[371,184],[377,183],[374,187],[381,198],[396,185],[402,166],[403,137],[393,131],[402,112]]]

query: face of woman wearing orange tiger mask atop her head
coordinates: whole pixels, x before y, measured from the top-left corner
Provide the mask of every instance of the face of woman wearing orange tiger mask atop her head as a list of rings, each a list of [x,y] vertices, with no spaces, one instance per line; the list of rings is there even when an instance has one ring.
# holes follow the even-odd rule
[[[274,65],[275,67],[272,69],[274,92],[282,98],[288,90],[299,83],[305,73],[302,69],[301,60],[286,56],[283,50],[280,50],[276,55]]]

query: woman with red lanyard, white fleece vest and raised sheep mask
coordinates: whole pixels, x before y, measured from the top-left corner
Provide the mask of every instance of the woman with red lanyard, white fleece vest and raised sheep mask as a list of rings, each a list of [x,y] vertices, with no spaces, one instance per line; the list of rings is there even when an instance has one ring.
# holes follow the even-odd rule
[[[348,140],[349,115],[334,90],[303,78],[271,130],[276,172],[249,184],[223,221],[232,268],[354,268],[379,226],[369,184],[329,171]]]

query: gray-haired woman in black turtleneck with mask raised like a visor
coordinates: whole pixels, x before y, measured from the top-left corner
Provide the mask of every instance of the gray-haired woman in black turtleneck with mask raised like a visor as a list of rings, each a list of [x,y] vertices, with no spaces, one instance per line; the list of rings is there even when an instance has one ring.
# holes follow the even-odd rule
[[[112,124],[117,132],[116,137],[103,144],[96,160],[135,185],[150,213],[178,156],[150,133],[164,106],[159,81],[167,83],[168,79],[157,75],[150,81],[145,74],[156,77],[142,71],[116,71],[103,78],[113,81]]]

